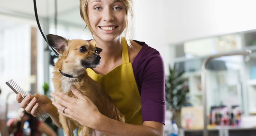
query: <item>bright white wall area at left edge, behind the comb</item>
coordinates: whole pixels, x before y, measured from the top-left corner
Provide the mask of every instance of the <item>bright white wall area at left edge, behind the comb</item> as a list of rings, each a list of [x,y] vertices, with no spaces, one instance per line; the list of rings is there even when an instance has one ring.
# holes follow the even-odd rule
[[[5,82],[13,79],[24,91],[30,91],[31,28],[27,24],[10,22],[0,30],[0,99],[14,94]],[[15,98],[12,100],[16,100]]]

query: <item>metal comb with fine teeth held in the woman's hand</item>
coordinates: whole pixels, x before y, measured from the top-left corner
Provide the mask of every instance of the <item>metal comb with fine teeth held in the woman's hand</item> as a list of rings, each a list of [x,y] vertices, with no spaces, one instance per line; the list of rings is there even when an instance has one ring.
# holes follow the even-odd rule
[[[19,87],[17,83],[15,83],[13,80],[10,80],[8,82],[5,82],[6,85],[8,85],[14,92],[15,94],[20,94],[22,95],[22,98],[24,99],[28,94]],[[40,106],[38,106],[36,112],[35,112],[43,121],[46,120],[46,118],[49,117],[49,114],[47,114]]]

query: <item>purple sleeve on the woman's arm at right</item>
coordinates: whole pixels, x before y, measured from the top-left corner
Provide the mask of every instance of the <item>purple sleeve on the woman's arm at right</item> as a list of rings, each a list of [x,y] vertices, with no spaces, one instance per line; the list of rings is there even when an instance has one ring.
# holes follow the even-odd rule
[[[141,94],[142,121],[165,124],[165,70],[161,55],[144,43],[132,65]]]

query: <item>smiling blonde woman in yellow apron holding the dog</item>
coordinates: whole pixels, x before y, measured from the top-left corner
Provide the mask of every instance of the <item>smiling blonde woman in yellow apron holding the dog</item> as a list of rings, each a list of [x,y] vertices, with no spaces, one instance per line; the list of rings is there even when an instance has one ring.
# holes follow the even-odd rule
[[[80,0],[80,13],[94,37],[89,41],[103,49],[100,66],[87,72],[108,92],[125,115],[126,123],[102,115],[75,87],[71,87],[71,91],[77,98],[51,94],[58,103],[42,95],[27,96],[23,101],[17,95],[17,102],[33,116],[37,116],[35,109],[40,104],[59,127],[56,111],[106,135],[162,136],[165,123],[163,61],[155,49],[129,39],[132,1]],[[121,37],[124,30],[125,38]]]

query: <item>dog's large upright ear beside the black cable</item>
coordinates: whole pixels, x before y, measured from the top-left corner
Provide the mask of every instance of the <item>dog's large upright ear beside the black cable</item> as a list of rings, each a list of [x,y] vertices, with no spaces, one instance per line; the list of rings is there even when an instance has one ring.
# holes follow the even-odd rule
[[[61,36],[48,34],[46,35],[46,38],[49,46],[56,49],[60,54],[62,54],[68,47],[68,40]]]

